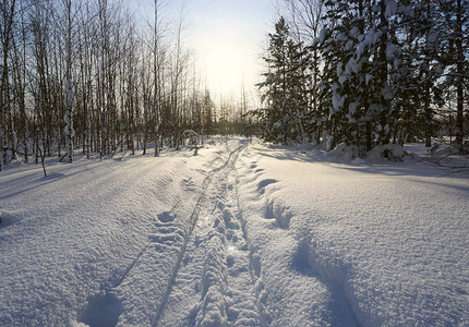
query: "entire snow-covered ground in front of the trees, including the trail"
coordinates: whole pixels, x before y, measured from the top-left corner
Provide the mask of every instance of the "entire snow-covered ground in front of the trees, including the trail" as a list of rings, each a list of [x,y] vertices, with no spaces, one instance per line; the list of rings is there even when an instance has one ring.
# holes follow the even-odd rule
[[[11,167],[0,325],[469,326],[468,199],[426,162],[241,138]]]

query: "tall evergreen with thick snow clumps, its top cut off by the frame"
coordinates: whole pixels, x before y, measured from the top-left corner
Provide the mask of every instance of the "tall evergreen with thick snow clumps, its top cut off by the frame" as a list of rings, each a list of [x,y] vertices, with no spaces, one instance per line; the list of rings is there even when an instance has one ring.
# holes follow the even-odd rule
[[[396,141],[402,51],[394,0],[326,2],[322,104],[329,109],[335,143],[356,146],[360,156]],[[385,154],[386,155],[386,154]]]

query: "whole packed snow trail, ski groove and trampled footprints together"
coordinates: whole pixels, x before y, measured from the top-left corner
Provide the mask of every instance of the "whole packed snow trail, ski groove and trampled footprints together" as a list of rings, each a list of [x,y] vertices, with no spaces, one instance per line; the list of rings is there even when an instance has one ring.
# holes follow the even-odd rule
[[[245,242],[236,244],[243,238],[237,233],[240,225],[230,210],[236,203],[234,181],[229,178],[245,146],[230,150],[224,165],[213,169],[204,181],[191,217],[191,231],[153,326],[260,325],[253,296],[246,296],[246,292],[253,293],[249,272],[248,279],[244,276],[249,271],[248,255],[241,261],[234,256],[237,251],[246,252],[246,246]]]

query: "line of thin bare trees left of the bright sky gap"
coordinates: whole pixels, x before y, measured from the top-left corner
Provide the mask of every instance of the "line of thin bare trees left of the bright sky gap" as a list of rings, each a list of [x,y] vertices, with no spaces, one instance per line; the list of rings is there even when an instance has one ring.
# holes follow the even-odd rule
[[[245,106],[225,100],[217,118],[183,20],[165,20],[160,2],[148,0],[142,20],[123,0],[1,1],[0,170],[48,156],[72,162],[77,149],[89,158],[152,145],[158,156],[188,129],[241,129]]]

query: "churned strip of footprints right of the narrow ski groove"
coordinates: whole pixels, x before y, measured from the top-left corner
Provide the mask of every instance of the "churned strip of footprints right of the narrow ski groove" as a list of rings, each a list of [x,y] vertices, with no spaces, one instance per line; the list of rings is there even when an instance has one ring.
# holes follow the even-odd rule
[[[237,158],[218,179],[213,229],[207,237],[202,282],[204,288],[195,318],[196,326],[261,325],[250,274],[248,242],[240,230],[241,217],[236,201],[236,161]]]

